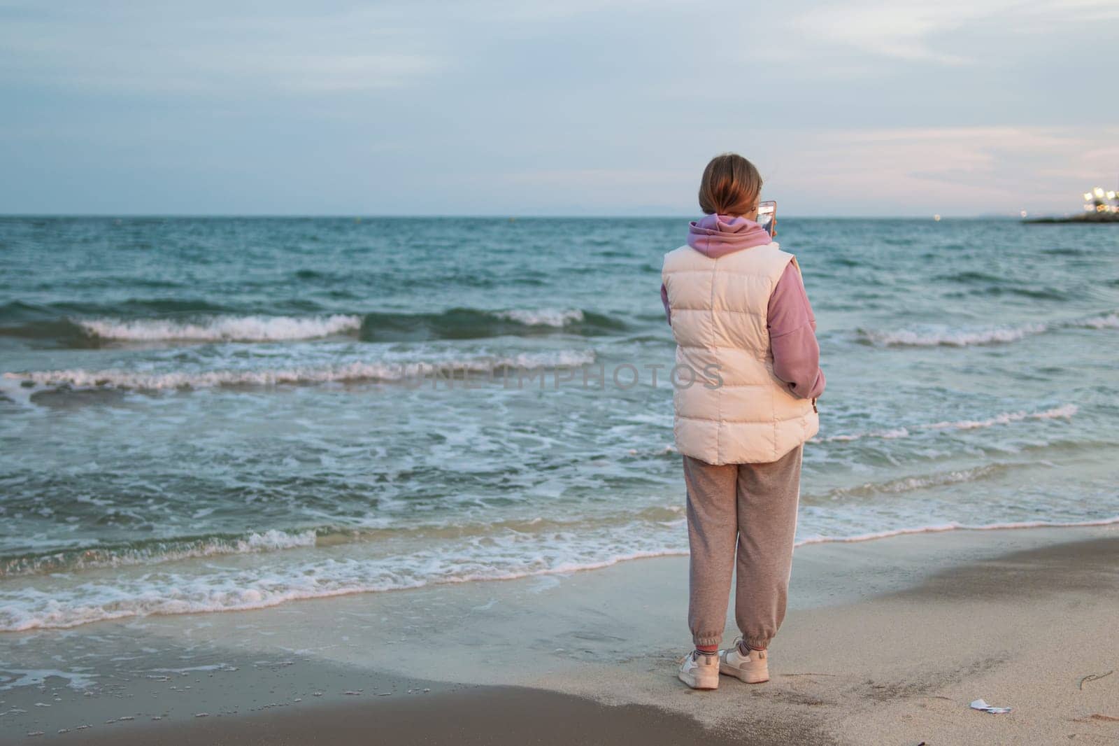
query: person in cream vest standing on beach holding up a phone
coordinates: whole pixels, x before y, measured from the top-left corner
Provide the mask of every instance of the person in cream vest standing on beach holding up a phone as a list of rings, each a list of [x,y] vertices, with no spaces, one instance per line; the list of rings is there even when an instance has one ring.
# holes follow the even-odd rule
[[[816,435],[820,351],[800,267],[756,222],[762,179],[742,156],[704,169],[687,245],[665,255],[660,288],[676,338],[676,447],[684,455],[692,548],[679,678],[769,681],[784,618],[803,442]],[[694,383],[688,385],[688,381]],[[742,636],[720,650],[731,576]]]

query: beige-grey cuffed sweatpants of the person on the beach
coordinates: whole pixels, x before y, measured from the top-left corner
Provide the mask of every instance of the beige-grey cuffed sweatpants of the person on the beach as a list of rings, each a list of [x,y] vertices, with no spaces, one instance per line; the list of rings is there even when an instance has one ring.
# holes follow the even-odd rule
[[[722,642],[735,570],[734,618],[745,643],[768,647],[781,626],[802,453],[798,446],[771,464],[723,466],[684,457],[692,547],[688,625],[696,645]]]

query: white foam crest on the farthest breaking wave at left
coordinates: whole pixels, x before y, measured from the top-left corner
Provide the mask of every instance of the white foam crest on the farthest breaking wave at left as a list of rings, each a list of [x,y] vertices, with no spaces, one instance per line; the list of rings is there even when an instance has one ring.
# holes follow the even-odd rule
[[[98,339],[129,342],[284,342],[314,339],[357,332],[361,317],[332,316],[211,316],[191,321],[175,319],[75,319]]]

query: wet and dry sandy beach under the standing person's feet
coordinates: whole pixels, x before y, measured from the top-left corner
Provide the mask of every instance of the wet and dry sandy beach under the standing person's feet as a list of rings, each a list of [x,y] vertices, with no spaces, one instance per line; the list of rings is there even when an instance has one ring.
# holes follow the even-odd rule
[[[713,744],[1119,738],[1113,526],[802,547],[772,680],[724,677],[714,692],[675,680],[686,568],[656,558],[401,591],[408,604],[354,595],[8,634],[0,740],[671,744],[697,729]],[[17,677],[34,686],[10,686]],[[969,709],[979,698],[1013,711]]]

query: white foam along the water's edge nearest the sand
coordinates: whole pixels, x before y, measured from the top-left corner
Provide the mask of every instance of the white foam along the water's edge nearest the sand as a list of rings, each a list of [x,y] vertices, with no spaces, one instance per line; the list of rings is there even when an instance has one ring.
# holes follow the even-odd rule
[[[1073,522],[947,522],[846,537],[808,537],[794,545],[862,542],[956,530],[1102,526],[1116,523],[1119,523],[1119,516]],[[636,559],[687,556],[683,521],[674,524],[670,535],[626,531],[609,538],[599,535],[598,541],[566,549],[542,542],[542,535],[519,539],[521,543],[516,547],[516,554],[507,553],[513,547],[492,540],[485,543],[485,556],[472,554],[469,550],[463,553],[466,548],[460,545],[424,549],[406,556],[363,558],[354,556],[351,547],[345,556],[299,562],[270,560],[247,568],[220,567],[210,561],[201,575],[177,571],[117,574],[49,591],[30,586],[9,586],[0,589],[0,632],[68,628],[91,622],[148,615],[248,610],[290,600],[567,575]]]

